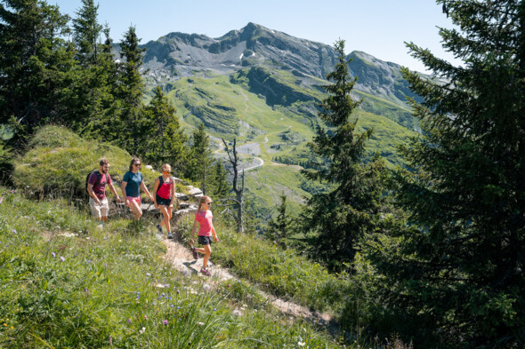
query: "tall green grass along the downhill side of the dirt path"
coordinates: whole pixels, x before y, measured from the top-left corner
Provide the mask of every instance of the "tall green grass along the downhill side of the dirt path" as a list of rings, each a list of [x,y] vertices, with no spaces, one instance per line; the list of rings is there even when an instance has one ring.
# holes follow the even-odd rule
[[[180,229],[189,239],[192,217],[182,219]],[[237,234],[220,223],[216,225],[221,241],[213,246],[215,263],[230,268],[238,276],[258,284],[263,290],[293,299],[312,310],[342,313],[349,304],[366,303],[355,280],[347,274],[329,274],[327,269],[300,255],[282,250],[252,234]],[[359,323],[362,308],[354,306],[347,314]]]

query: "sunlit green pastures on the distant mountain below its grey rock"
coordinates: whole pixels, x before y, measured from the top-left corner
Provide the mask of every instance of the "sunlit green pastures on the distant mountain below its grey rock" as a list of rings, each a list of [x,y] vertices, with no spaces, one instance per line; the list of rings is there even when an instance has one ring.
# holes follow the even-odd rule
[[[281,74],[279,78],[286,80],[295,77]],[[296,175],[298,169],[292,166],[271,166],[269,163],[272,158],[278,156],[288,156],[301,161],[308,159],[309,149],[305,146],[306,142],[287,144],[279,137],[279,133],[293,131],[309,141],[314,136],[314,131],[308,126],[311,120],[298,118],[282,107],[268,106],[264,99],[247,91],[244,84],[230,83],[228,76],[191,77],[190,83],[188,80],[188,78],[179,80],[175,84],[174,90],[168,94],[168,97],[177,107],[177,114],[184,116],[183,119],[187,126],[192,127],[199,122],[198,118],[191,114],[193,106],[207,105],[208,107],[212,106],[212,109],[215,110],[217,106],[231,107],[230,114],[234,117],[229,120],[237,120],[237,124],[230,123],[230,129],[233,130],[234,126],[237,127],[238,135],[225,134],[217,130],[211,130],[210,134],[226,139],[237,137],[239,146],[245,142],[259,143],[261,149],[259,156],[268,165],[264,165],[263,169],[255,172],[248,172],[246,186],[255,194],[260,205],[273,208],[279,203],[279,195],[285,192],[291,195],[289,202],[293,208],[298,207],[298,203],[303,201],[302,197],[308,196],[308,193],[304,192],[299,186],[301,179]],[[307,93],[308,90],[302,89],[301,91]],[[311,91],[316,98],[321,96],[319,91]],[[359,98],[365,98],[369,101],[368,103],[374,104],[379,112],[390,111],[393,114],[395,114],[395,110],[400,111],[401,114],[407,112],[406,109],[395,106],[392,102],[369,96],[360,91],[356,91],[356,93]],[[223,113],[221,107],[219,107],[218,113]],[[358,131],[372,127],[375,130],[372,139],[367,142],[367,153],[372,155],[378,151],[385,157],[389,166],[400,165],[400,158],[396,155],[396,147],[405,143],[409,137],[415,136],[416,132],[409,131],[387,117],[364,110],[359,110],[357,115],[359,115]],[[280,149],[272,149],[272,145],[280,145]]]

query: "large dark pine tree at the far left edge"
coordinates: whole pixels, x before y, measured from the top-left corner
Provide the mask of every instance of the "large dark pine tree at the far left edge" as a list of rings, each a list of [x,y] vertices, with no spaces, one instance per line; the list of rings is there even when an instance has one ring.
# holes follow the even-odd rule
[[[74,66],[69,17],[37,0],[0,4],[0,123],[13,122],[19,140],[44,122],[71,115],[61,105],[69,98]]]

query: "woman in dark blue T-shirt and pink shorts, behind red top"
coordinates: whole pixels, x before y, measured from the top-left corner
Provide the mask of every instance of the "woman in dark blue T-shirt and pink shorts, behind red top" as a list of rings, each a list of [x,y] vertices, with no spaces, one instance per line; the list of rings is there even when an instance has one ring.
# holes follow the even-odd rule
[[[133,218],[139,220],[142,216],[141,210],[141,189],[144,193],[148,194],[149,199],[153,201],[153,196],[149,194],[148,188],[142,180],[142,173],[139,172],[141,169],[141,159],[133,157],[129,164],[129,171],[125,172],[124,178],[122,178],[122,194],[125,195],[125,204],[133,212]]]

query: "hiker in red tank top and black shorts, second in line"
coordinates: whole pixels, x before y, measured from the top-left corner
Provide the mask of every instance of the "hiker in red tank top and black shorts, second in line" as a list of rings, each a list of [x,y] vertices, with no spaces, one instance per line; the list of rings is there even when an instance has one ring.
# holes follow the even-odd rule
[[[155,184],[153,185],[153,192],[155,193],[155,208],[162,213],[162,222],[157,225],[158,232],[162,232],[162,226],[166,227],[167,238],[172,239],[174,236],[171,231],[170,219],[172,218],[174,210],[175,197],[175,178],[170,176],[172,167],[165,163],[160,168],[162,170],[162,176],[159,176],[155,179]]]

